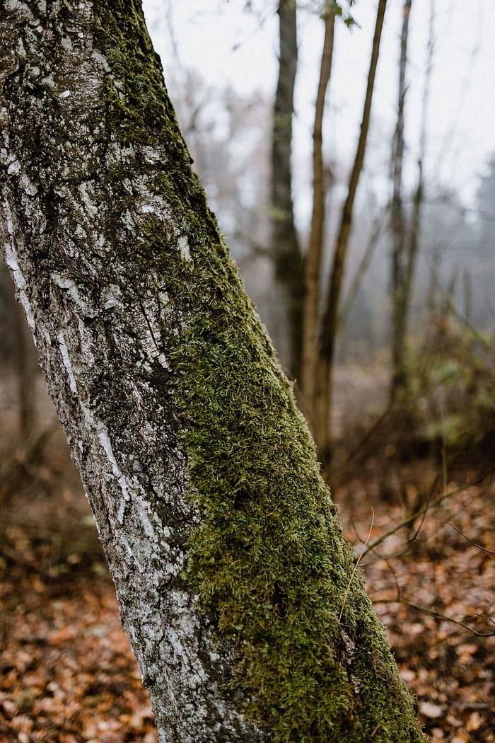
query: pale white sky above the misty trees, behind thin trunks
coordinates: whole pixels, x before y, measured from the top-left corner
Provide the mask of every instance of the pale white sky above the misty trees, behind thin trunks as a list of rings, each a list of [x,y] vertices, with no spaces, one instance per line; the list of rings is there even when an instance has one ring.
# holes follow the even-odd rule
[[[165,70],[200,71],[209,85],[226,82],[243,94],[275,91],[278,18],[260,0],[258,15],[243,12],[245,0],[143,0],[148,28]],[[256,7],[256,0],[253,2]],[[469,204],[477,177],[495,151],[495,2],[433,0],[435,54],[427,139],[427,182],[455,189]],[[275,5],[275,3],[273,3]],[[367,158],[386,161],[396,108],[402,0],[388,0],[373,105],[374,129]],[[361,120],[376,1],[357,0],[360,27],[338,24],[324,138],[327,152],[350,166]],[[410,18],[406,138],[410,175],[419,138],[430,0],[413,0]],[[176,52],[171,43],[173,30]],[[299,20],[300,65],[296,93],[295,158],[309,166],[312,103],[323,42],[323,23],[309,12]],[[177,80],[177,76],[174,76]],[[174,89],[168,85],[172,102]],[[179,95],[180,91],[175,91]],[[378,186],[379,188],[379,186]]]

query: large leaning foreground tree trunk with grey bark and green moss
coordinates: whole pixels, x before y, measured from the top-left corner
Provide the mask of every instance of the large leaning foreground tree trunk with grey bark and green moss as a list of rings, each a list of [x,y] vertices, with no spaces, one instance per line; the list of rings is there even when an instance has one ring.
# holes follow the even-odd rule
[[[160,741],[419,742],[137,0],[0,13],[1,234]]]

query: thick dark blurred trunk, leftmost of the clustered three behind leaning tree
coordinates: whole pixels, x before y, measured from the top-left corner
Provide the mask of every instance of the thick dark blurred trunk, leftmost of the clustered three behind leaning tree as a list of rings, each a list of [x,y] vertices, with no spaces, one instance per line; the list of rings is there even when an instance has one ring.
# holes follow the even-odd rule
[[[281,0],[280,56],[272,130],[272,255],[275,279],[286,305],[289,329],[289,373],[301,374],[303,293],[302,257],[295,230],[292,203],[292,114],[298,65],[298,38],[295,0]]]

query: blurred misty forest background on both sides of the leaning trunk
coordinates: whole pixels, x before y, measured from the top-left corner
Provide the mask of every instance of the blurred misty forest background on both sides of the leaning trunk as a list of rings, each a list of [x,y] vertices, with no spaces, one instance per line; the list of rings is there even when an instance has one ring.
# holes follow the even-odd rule
[[[185,3],[145,11],[194,169],[295,380],[425,730],[489,743],[495,139],[480,149],[463,115],[487,116],[493,134],[494,104],[472,93],[489,78],[477,60],[495,16],[482,0],[361,5],[191,2],[186,27]],[[205,23],[214,33],[234,11],[232,65],[268,34],[273,85],[213,83],[184,51],[184,36]],[[3,264],[0,411],[0,736],[151,743],[91,513]]]

